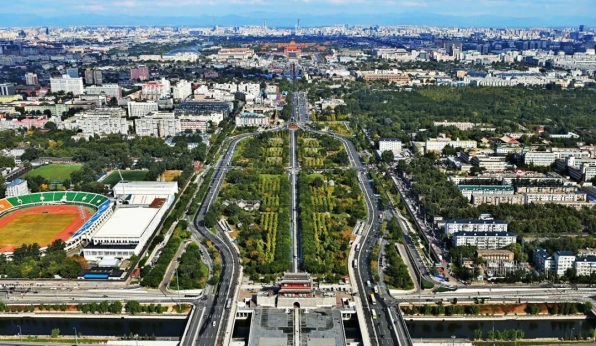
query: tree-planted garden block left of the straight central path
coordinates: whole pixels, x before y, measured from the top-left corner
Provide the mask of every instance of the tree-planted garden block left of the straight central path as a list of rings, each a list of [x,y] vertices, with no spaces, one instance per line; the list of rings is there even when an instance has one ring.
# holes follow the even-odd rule
[[[282,156],[270,156],[279,154],[277,149]],[[264,132],[246,139],[233,163],[244,168],[227,173],[217,202],[205,215],[207,227],[225,216],[231,227],[239,230],[244,272],[253,278],[290,267],[290,181],[284,173],[288,161],[287,132]],[[241,199],[258,200],[260,208],[243,209],[235,203]],[[227,205],[223,201],[228,201]]]

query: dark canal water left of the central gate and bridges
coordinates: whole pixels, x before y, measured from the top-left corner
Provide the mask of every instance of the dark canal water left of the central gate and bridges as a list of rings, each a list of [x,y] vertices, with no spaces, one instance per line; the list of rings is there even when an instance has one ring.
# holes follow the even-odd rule
[[[130,333],[140,336],[181,337],[186,319],[164,318],[52,318],[52,317],[2,317],[0,335],[17,335],[21,326],[23,335],[50,335],[60,329],[60,335],[73,335],[74,329],[83,336],[123,336]]]

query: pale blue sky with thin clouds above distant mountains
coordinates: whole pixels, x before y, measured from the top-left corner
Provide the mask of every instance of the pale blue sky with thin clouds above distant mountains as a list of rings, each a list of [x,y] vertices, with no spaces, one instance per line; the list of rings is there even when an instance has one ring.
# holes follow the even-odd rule
[[[440,15],[515,18],[596,18],[596,0],[3,0],[7,13],[99,16],[308,16]],[[372,17],[374,18],[374,17]],[[256,18],[255,18],[256,19]],[[596,24],[596,20],[591,20]],[[552,22],[552,21],[551,21]],[[335,24],[335,23],[329,23]],[[425,23],[432,25],[432,23]],[[520,22],[523,24],[523,21]],[[567,23],[561,23],[566,25]],[[578,23],[580,24],[580,23]],[[584,23],[590,25],[592,23]],[[41,23],[40,25],[43,25]],[[0,26],[2,24],[0,23]]]

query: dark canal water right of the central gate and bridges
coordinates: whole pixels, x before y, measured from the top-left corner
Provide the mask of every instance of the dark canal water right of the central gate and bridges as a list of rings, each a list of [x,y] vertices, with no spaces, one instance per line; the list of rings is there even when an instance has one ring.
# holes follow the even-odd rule
[[[536,338],[562,338],[577,335],[580,331],[583,336],[590,329],[596,328],[596,319],[584,320],[507,320],[507,321],[420,321],[406,318],[406,325],[412,339],[449,339],[471,338],[474,330],[480,329],[487,337],[489,330],[503,331],[521,329],[525,332],[526,339]]]

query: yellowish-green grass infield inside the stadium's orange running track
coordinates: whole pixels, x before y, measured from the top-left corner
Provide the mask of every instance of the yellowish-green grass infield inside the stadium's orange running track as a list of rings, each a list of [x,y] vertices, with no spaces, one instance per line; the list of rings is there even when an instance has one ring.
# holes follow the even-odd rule
[[[77,214],[24,214],[17,216],[0,228],[0,247],[19,246],[23,243],[50,244],[68,225],[79,217]],[[43,227],[39,227],[43,225]]]

